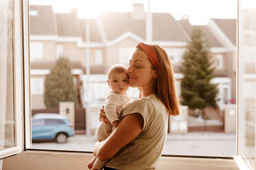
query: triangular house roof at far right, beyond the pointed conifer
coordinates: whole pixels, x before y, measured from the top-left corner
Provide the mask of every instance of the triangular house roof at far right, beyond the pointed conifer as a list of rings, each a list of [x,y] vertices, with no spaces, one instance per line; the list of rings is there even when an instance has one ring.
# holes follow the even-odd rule
[[[237,20],[236,19],[212,19],[222,30],[233,45],[237,44]]]

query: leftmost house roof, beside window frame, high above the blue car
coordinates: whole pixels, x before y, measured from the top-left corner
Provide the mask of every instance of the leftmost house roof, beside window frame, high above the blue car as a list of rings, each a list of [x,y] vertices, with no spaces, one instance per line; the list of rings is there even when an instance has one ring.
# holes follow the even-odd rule
[[[30,34],[34,35],[56,35],[56,23],[52,6],[50,5],[30,5],[30,11],[35,11],[36,15],[30,15]],[[32,12],[31,12],[32,13]]]

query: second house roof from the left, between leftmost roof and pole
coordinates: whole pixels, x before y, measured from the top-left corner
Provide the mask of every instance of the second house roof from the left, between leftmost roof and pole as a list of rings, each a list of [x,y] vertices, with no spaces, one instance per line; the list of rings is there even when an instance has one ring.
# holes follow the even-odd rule
[[[74,12],[56,13],[58,36],[81,36],[79,22]]]

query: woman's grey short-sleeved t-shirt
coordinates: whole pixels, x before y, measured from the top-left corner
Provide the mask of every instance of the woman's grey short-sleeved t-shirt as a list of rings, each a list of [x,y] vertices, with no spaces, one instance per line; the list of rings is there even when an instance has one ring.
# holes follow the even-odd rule
[[[155,169],[167,136],[168,113],[155,95],[137,99],[120,113],[120,119],[128,114],[142,115],[142,132],[118,151],[106,167],[114,169]]]

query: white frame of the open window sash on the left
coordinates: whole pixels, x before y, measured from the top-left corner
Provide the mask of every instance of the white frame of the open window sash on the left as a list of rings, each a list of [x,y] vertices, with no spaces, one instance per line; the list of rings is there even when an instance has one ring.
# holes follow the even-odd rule
[[[22,17],[22,3],[14,0],[14,138],[15,146],[0,151],[0,159],[23,151],[23,17]]]

